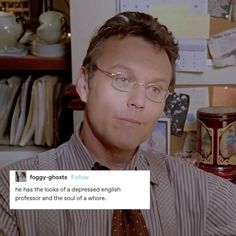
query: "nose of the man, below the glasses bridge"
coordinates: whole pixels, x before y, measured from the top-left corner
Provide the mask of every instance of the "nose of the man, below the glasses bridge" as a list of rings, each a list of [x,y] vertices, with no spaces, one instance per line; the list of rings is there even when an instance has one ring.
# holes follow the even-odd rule
[[[128,106],[130,108],[142,110],[145,107],[146,91],[143,84],[140,83],[139,86],[135,86],[128,96]]]

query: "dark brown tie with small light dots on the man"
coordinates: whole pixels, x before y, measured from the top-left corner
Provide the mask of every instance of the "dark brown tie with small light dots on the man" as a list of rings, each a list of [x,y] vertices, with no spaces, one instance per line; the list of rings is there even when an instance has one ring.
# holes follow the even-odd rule
[[[92,170],[109,170],[98,162]],[[148,236],[148,229],[141,210],[114,210],[112,217],[112,236]]]

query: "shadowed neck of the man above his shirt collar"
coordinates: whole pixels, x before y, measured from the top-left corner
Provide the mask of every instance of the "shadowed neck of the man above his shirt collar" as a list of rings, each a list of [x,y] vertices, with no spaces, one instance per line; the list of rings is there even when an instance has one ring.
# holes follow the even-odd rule
[[[80,131],[80,138],[88,151],[95,156],[96,160],[111,170],[123,169],[132,159],[136,150],[120,150],[106,145],[96,138],[86,123]]]

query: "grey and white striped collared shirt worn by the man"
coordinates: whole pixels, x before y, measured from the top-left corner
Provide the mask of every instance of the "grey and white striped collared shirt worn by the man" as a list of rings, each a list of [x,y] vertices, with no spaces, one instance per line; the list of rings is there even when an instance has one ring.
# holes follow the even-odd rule
[[[42,156],[47,156],[48,160],[55,157],[60,170],[90,170],[96,161],[82,144],[77,131],[56,149],[3,167],[0,170],[0,235],[1,232],[7,236],[40,235],[43,226],[39,225],[39,211],[10,210],[8,203],[9,170],[37,170]],[[164,216],[160,213],[162,206],[158,205],[155,191],[163,179],[158,175],[157,166],[151,165],[146,154],[139,150],[126,167],[128,170],[150,170],[150,210],[142,210],[150,236],[169,236],[163,228],[167,219],[173,218],[176,236],[236,235],[236,185],[180,159],[160,154],[156,154],[156,158],[165,160],[170,180],[171,191],[162,191],[161,197],[164,201],[173,197],[175,211],[164,209]],[[112,213],[112,210],[58,210],[59,223],[50,236],[110,236]],[[53,219],[48,221],[54,223]]]

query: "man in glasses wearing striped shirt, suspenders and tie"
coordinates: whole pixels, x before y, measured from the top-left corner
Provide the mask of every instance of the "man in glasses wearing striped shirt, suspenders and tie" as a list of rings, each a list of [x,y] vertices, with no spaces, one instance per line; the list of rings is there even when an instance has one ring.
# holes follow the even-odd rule
[[[117,233],[112,210],[58,210],[59,224],[48,235],[236,235],[235,185],[139,149],[174,89],[177,56],[172,34],[152,16],[124,12],[105,22],[90,42],[76,84],[86,103],[83,124],[62,146],[0,172],[5,235],[46,235],[39,223],[42,211],[9,210],[8,172],[46,169],[51,160],[50,169],[90,170],[97,163],[97,169],[150,170],[151,207],[139,212],[144,233]]]

